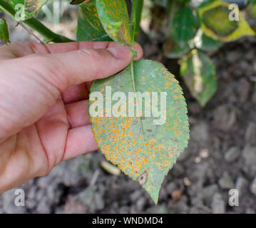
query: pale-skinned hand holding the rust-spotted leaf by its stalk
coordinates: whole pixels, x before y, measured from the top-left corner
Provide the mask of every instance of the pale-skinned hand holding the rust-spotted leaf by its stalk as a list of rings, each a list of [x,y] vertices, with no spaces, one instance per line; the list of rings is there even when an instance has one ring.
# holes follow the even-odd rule
[[[143,51],[136,43],[137,57]],[[88,118],[91,81],[126,68],[114,42],[0,47],[0,193],[97,149]]]

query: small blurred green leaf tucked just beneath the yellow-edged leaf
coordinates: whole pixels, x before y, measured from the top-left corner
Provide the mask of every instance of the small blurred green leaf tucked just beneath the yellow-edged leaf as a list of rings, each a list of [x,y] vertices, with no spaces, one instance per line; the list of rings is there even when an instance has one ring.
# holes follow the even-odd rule
[[[203,51],[216,51],[222,46],[222,41],[214,40],[203,33],[202,29],[198,29],[198,32],[194,38],[195,47]]]

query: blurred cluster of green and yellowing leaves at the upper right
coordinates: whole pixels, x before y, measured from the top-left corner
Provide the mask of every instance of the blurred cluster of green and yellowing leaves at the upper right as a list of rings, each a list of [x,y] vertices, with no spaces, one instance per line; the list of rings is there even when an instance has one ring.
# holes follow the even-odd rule
[[[230,4],[223,1],[203,1],[197,7],[188,4],[190,1],[186,0],[151,1],[153,4],[166,7],[168,10],[166,30],[170,32],[165,37],[163,53],[168,58],[181,58],[183,62],[181,73],[190,68],[189,75],[192,78],[183,76],[183,79],[194,97],[202,106],[205,106],[216,90],[215,71],[210,71],[211,83],[205,83],[200,93],[197,93],[193,87],[195,82],[193,75],[195,73],[192,71],[192,59],[195,60],[196,56],[199,56],[199,61],[204,63],[205,60],[211,68],[213,63],[211,63],[210,58],[206,58],[206,53],[202,51],[217,51],[224,42],[234,41],[242,36],[255,36],[255,32],[247,24],[239,9],[230,8]],[[247,8],[251,15],[254,15],[255,4],[255,0],[249,1]],[[230,20],[230,16],[233,20]],[[238,21],[234,20],[234,16],[238,16]],[[165,21],[165,19],[162,20]],[[190,58],[188,58],[187,53],[193,48],[198,48],[200,51],[192,51],[189,55]],[[190,63],[190,67],[185,68],[187,62]],[[193,67],[195,69],[195,66]],[[204,75],[200,74],[199,78],[205,78]]]

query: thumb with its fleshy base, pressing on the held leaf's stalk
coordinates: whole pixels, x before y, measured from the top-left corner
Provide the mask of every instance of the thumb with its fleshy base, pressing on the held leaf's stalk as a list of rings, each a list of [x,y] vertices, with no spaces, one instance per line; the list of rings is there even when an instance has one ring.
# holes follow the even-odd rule
[[[101,43],[81,43],[78,47],[83,45]],[[143,51],[138,44],[135,50],[136,59],[141,58]],[[128,47],[111,42],[106,48],[39,52],[0,61],[0,142],[39,120],[66,88],[118,73],[131,59]]]

